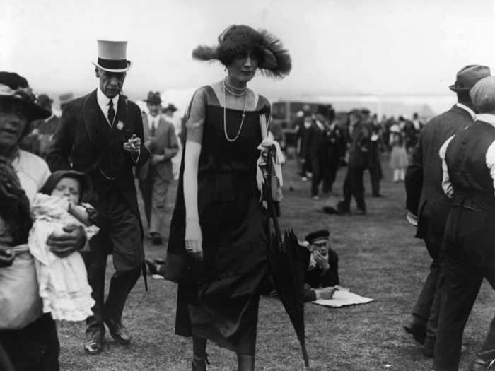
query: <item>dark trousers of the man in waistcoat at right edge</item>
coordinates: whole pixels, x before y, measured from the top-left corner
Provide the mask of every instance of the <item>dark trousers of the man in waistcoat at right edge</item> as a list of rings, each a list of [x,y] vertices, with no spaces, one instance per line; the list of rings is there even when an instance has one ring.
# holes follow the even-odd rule
[[[435,343],[434,369],[458,370],[462,334],[483,278],[495,289],[495,217],[453,206],[445,227],[445,278]],[[495,319],[478,356],[495,358]]]

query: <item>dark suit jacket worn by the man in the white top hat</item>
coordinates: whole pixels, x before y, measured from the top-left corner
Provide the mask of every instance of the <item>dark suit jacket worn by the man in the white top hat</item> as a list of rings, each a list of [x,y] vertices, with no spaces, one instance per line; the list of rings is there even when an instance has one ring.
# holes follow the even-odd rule
[[[132,166],[135,157],[124,151],[124,142],[136,134],[144,143],[143,123],[139,107],[120,96],[117,117],[112,128],[100,110],[96,90],[67,103],[62,119],[48,151],[50,170],[74,169],[86,173],[93,184],[91,204],[105,215],[105,194],[112,183],[120,189],[131,211],[141,220],[134,186]],[[138,164],[146,162],[149,151],[141,146]],[[100,169],[115,177],[109,181]]]

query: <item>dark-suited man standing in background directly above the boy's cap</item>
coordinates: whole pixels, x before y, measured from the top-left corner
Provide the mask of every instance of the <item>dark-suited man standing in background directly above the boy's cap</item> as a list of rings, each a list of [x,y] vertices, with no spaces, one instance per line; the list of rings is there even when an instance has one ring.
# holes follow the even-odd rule
[[[311,196],[318,200],[318,189],[325,175],[325,167],[328,165],[328,143],[327,136],[327,115],[328,108],[325,105],[319,105],[315,113],[308,133],[305,137],[304,156],[310,159],[313,177],[311,178]]]

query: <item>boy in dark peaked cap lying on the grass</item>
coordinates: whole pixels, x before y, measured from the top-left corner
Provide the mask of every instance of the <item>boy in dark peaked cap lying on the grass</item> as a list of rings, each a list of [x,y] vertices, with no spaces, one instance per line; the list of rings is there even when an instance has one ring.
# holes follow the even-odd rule
[[[334,285],[339,284],[339,257],[330,248],[328,230],[317,230],[305,237],[311,252],[308,270],[304,277],[304,301],[332,299]]]

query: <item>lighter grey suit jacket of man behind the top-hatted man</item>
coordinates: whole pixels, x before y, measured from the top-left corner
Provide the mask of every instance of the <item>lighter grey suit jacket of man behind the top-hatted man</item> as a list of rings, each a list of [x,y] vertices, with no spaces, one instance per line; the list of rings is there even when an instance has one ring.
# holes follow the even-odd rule
[[[173,167],[172,158],[177,155],[179,151],[179,142],[175,135],[175,129],[173,124],[165,120],[163,117],[158,122],[158,127],[155,131],[155,136],[151,136],[148,125],[148,115],[143,114],[143,131],[144,131],[144,143],[147,143],[147,148],[153,155],[164,155],[164,159],[161,163],[155,165],[158,175],[163,180],[173,179]],[[150,161],[143,166],[139,167],[138,177],[141,180],[146,179],[148,175]]]

